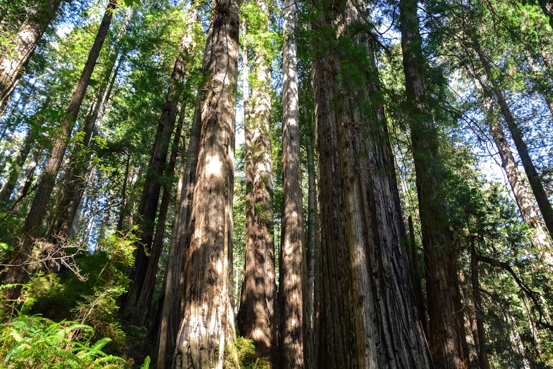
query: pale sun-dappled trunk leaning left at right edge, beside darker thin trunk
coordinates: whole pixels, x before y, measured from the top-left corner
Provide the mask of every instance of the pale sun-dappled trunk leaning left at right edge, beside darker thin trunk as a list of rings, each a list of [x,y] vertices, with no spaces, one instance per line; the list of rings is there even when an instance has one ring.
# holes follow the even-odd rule
[[[520,215],[524,222],[530,228],[530,241],[535,248],[540,250],[538,258],[541,262],[553,266],[553,257],[551,256],[551,241],[549,235],[544,231],[541,218],[538,211],[534,207],[534,200],[532,199],[524,178],[520,170],[518,169],[517,162],[513,157],[513,152],[509,147],[507,138],[503,133],[503,126],[498,122],[497,116],[493,112],[493,108],[490,106],[486,112],[486,118],[489,124],[490,132],[492,133],[493,141],[497,147],[497,152],[501,158],[501,166],[507,174],[507,179],[511,189],[515,202],[519,207]]]

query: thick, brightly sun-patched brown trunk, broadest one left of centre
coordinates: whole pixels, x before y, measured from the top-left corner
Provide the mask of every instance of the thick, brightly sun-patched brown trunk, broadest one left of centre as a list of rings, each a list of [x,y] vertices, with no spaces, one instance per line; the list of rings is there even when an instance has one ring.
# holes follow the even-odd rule
[[[225,360],[237,361],[233,349],[232,198],[238,33],[238,2],[213,2],[191,241],[185,256],[184,309],[174,369],[222,369]]]

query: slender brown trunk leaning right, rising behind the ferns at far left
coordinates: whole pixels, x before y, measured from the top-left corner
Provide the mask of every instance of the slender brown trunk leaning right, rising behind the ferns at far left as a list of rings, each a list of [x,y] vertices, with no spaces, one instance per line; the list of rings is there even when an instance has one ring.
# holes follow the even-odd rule
[[[82,100],[85,97],[86,88],[90,82],[90,77],[94,66],[96,65],[96,60],[102,49],[104,40],[106,39],[107,32],[109,30],[109,24],[111,23],[111,18],[113,16],[114,9],[116,8],[116,3],[114,0],[110,0],[106,12],[103,15],[102,22],[98,28],[98,33],[88,53],[88,58],[85,63],[85,67],[82,70],[81,77],[71,100],[69,102],[69,108],[65,114],[64,121],[61,124],[61,133],[56,137],[54,148],[50,153],[50,159],[44,168],[44,172],[39,181],[36,193],[31,204],[30,210],[25,218],[25,223],[23,224],[22,232],[22,241],[15,248],[14,256],[12,257],[12,263],[14,266],[8,269],[7,275],[4,278],[4,284],[13,284],[13,283],[23,283],[27,272],[22,267],[25,261],[28,259],[28,254],[32,251],[33,247],[33,238],[36,235],[40,224],[43,221],[44,212],[48,201],[50,200],[50,195],[54,189],[54,184],[58,171],[60,169],[61,162],[63,160],[65,149],[67,148],[67,142],[71,136],[71,131],[74,126],[74,123],[79,113]],[[9,289],[4,289],[4,296],[7,299],[17,299],[20,294],[20,287],[14,287]]]

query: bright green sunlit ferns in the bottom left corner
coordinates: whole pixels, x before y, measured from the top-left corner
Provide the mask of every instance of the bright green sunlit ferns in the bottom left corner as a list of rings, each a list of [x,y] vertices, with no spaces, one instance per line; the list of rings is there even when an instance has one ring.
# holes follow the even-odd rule
[[[60,323],[24,310],[0,327],[0,367],[11,368],[124,368],[126,361],[108,355],[103,348],[108,338],[90,341],[92,328],[75,321]]]

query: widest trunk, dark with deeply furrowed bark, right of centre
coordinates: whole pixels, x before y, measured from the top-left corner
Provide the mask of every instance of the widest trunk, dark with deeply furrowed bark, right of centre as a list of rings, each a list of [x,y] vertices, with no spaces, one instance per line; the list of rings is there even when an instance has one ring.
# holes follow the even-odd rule
[[[327,173],[320,171],[321,254],[341,251],[342,259],[332,254],[322,258],[329,264],[326,268],[342,273],[338,287],[348,293],[325,291],[338,283],[321,281],[322,293],[338,301],[336,307],[321,309],[334,321],[325,327],[328,346],[319,354],[326,358],[325,367],[428,368],[431,358],[416,314],[409,259],[400,246],[405,229],[378,98],[375,45],[370,34],[354,32],[367,27],[367,14],[360,13],[363,3],[332,5],[323,14],[330,24],[316,25],[337,32],[336,39],[316,41],[321,50],[314,79],[317,157],[320,170],[330,167]],[[339,182],[332,183],[332,177]],[[341,199],[336,208],[328,209],[336,198]],[[336,323],[339,319],[347,325],[345,331]],[[335,357],[342,362],[336,363]]]

